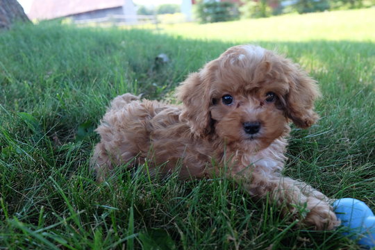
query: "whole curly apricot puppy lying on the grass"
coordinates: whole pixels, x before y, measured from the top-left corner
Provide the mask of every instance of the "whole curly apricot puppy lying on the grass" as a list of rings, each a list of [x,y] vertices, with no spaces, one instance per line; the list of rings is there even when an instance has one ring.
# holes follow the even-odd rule
[[[231,47],[177,88],[181,106],[116,97],[97,133],[92,166],[104,181],[119,165],[149,160],[151,174],[181,179],[224,174],[253,197],[269,197],[300,224],[338,226],[328,198],[281,175],[290,122],[313,125],[315,81],[291,60],[252,45]],[[307,208],[299,215],[298,208]],[[305,210],[306,211],[306,210]]]

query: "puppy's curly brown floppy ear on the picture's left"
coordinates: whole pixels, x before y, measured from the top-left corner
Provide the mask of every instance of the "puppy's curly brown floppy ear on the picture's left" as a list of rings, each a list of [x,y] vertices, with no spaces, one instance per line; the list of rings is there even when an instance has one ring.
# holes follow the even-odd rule
[[[188,122],[194,135],[202,137],[211,131],[209,79],[204,77],[206,69],[192,73],[176,90],[176,96],[183,101],[181,120]]]

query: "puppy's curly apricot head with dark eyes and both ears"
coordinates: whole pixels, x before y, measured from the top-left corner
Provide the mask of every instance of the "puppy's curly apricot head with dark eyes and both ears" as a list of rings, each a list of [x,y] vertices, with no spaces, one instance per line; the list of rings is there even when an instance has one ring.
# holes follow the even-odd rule
[[[314,124],[315,81],[291,60],[252,45],[231,47],[177,89],[192,133],[264,149],[289,130]]]

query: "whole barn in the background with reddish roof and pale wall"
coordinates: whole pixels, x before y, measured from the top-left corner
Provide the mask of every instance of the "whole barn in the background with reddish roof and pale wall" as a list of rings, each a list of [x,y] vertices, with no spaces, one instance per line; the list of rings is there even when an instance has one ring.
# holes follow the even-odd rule
[[[128,24],[137,22],[131,0],[34,0],[28,17],[32,20],[72,17],[74,21],[122,16]]]

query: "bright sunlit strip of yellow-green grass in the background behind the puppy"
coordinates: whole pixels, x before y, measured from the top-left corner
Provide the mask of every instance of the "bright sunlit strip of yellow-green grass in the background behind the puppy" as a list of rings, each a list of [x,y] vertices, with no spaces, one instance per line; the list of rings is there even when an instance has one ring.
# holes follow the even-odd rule
[[[375,8],[282,15],[213,24],[165,25],[165,33],[226,42],[374,42]]]

